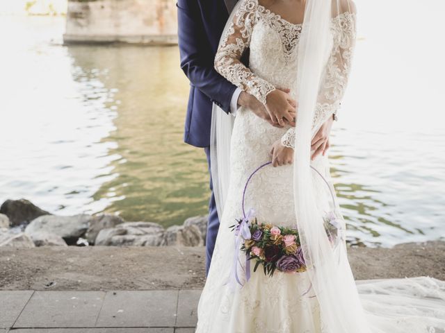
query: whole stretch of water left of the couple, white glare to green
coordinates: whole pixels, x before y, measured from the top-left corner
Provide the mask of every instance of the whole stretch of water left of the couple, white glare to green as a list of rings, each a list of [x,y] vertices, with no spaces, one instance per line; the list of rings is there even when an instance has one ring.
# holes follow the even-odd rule
[[[177,48],[61,46],[63,19],[7,18],[0,200],[163,225],[205,214],[207,162],[183,143]],[[6,27],[8,29],[6,29]]]

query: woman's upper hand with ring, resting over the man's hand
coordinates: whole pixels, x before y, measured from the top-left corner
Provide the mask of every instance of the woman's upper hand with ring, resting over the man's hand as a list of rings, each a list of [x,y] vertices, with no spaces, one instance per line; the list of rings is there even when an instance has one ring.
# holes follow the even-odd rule
[[[289,97],[289,90],[275,89],[266,97],[266,110],[270,119],[280,126],[284,126],[285,121],[293,123],[296,114],[297,103]]]

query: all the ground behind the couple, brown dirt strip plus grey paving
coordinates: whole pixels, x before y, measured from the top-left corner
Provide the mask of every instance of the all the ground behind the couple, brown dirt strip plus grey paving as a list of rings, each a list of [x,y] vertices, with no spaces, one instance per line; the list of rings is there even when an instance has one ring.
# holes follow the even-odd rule
[[[358,280],[445,280],[444,253],[445,242],[348,250]],[[0,248],[0,333],[192,333],[204,257],[204,247]]]

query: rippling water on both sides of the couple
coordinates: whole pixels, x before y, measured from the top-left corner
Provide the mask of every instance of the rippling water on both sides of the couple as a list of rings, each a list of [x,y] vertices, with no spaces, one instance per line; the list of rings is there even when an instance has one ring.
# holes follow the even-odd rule
[[[204,152],[182,142],[176,47],[63,46],[61,17],[1,17],[0,29],[13,32],[0,58],[1,202],[165,226],[206,213]],[[406,36],[394,44],[366,19],[361,29],[330,150],[348,239],[444,239],[445,52],[429,47],[420,61]]]

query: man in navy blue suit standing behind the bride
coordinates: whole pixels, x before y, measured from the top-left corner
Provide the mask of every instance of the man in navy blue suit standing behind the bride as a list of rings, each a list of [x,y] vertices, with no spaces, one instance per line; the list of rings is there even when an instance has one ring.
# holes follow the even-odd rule
[[[181,54],[181,69],[190,80],[191,90],[188,98],[184,142],[204,148],[210,170],[210,130],[212,103],[227,114],[236,114],[239,106],[252,110],[254,114],[278,126],[254,96],[241,92],[213,69],[213,62],[220,37],[229,13],[238,0],[177,0],[178,38]],[[318,131],[312,149],[316,154],[328,148],[330,124],[327,121]],[[327,125],[327,126],[326,126]],[[323,129],[324,128],[324,129]],[[211,256],[218,234],[219,219],[216,212],[215,196],[210,178],[211,198],[209,203],[209,222],[206,238],[206,271],[209,273]]]

